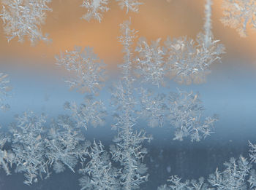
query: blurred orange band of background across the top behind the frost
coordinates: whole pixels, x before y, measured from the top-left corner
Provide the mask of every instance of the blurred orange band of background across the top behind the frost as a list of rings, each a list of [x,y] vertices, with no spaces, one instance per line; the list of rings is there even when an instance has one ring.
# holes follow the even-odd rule
[[[109,4],[110,10],[103,15],[102,23],[91,20],[81,20],[86,9],[80,7],[82,0],[53,0],[49,7],[43,33],[49,33],[52,44],[40,41],[31,47],[26,40],[22,44],[12,39],[8,44],[4,36],[2,21],[0,21],[0,56],[1,58],[23,58],[34,61],[34,64],[54,66],[54,55],[60,51],[72,50],[74,45],[94,47],[94,52],[105,61],[108,66],[116,67],[122,61],[121,44],[117,37],[120,35],[118,25],[131,17],[132,27],[138,30],[138,36],[151,39],[166,39],[167,36],[195,37],[203,27],[203,12],[205,0],[141,0],[139,13],[119,9],[116,1]],[[222,0],[214,0],[213,32],[227,48],[225,56],[241,55],[256,58],[256,31],[249,31],[249,37],[241,38],[235,29],[227,28],[220,23],[222,17]],[[39,63],[37,63],[37,60]],[[4,63],[1,63],[4,64]]]

